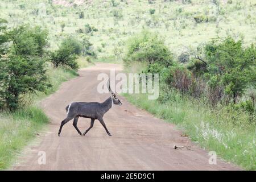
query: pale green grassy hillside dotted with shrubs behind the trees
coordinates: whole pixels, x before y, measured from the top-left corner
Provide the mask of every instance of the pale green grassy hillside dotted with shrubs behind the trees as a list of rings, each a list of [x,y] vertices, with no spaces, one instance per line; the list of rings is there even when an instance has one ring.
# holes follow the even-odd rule
[[[255,9],[253,0],[0,2],[0,16],[9,26],[30,23],[47,28],[53,49],[72,34],[88,37],[98,57],[117,58],[125,52],[126,39],[143,28],[162,35],[176,55],[217,36],[242,37],[250,44],[256,40]],[[90,31],[93,27],[97,30]]]

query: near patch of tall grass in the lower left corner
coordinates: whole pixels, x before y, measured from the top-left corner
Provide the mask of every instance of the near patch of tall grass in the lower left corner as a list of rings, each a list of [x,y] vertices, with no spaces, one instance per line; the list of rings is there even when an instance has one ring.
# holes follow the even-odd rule
[[[0,169],[9,167],[15,155],[48,121],[43,110],[36,106],[0,113]]]

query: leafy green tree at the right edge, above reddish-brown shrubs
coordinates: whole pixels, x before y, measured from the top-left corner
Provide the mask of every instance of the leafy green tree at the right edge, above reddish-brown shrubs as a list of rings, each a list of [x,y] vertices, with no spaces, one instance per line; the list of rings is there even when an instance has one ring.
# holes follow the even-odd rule
[[[241,40],[236,42],[230,37],[221,42],[216,40],[205,47],[205,56],[207,76],[214,76],[216,82],[224,85],[235,104],[237,97],[250,85],[256,86],[256,48],[253,44],[243,48]]]

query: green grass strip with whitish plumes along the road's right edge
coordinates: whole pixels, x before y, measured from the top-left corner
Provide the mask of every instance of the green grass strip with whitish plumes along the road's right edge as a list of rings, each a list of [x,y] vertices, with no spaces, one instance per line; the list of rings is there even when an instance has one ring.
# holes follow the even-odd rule
[[[212,110],[172,92],[166,102],[148,100],[146,94],[124,94],[128,101],[183,130],[192,141],[242,168],[256,169],[255,123],[243,115]]]

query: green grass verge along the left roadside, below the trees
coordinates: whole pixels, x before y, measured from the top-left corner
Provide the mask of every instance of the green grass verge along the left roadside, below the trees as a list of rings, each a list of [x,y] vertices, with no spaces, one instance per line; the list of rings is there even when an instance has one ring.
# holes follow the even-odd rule
[[[9,168],[16,155],[48,123],[49,119],[38,106],[38,102],[55,92],[62,82],[76,77],[77,73],[69,69],[52,68],[49,65],[47,75],[52,88],[47,93],[36,94],[31,106],[14,113],[0,112],[0,169]]]

